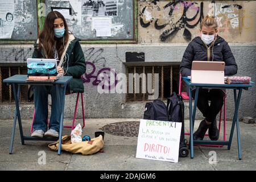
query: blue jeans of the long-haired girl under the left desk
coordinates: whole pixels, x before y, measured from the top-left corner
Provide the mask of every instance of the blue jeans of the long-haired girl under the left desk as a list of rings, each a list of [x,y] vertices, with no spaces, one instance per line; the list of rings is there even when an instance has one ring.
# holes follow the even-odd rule
[[[57,85],[59,86],[59,85]],[[48,118],[48,94],[51,94],[52,109],[51,118],[49,120],[49,129],[59,132],[60,129],[60,116],[61,106],[63,104],[63,89],[59,86],[59,93],[56,92],[56,86],[49,85],[34,85],[34,102],[35,102],[35,118],[33,129],[47,131],[47,118]],[[57,97],[60,96],[60,104]]]

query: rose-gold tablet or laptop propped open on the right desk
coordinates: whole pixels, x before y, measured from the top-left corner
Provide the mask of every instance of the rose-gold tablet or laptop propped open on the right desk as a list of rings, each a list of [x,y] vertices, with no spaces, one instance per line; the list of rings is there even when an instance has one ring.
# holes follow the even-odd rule
[[[191,82],[194,84],[225,84],[224,61],[192,61]]]

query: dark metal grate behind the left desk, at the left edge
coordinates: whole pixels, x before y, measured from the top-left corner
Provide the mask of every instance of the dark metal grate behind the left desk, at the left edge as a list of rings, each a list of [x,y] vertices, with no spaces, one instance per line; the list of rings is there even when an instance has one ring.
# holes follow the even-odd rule
[[[1,66],[0,65],[0,103],[14,103],[13,88],[3,83],[5,78],[13,75],[27,75],[26,66]],[[20,86],[20,103],[27,103],[27,92],[29,85]],[[18,90],[18,88],[16,88]]]

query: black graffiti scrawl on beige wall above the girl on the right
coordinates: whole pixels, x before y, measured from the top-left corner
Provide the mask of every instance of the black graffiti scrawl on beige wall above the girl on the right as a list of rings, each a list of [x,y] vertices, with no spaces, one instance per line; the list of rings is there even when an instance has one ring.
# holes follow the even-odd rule
[[[204,14],[216,16],[220,31],[237,31],[241,24],[241,9],[242,6],[238,4],[227,5],[214,1],[152,1],[141,4],[139,22],[143,28],[152,25],[155,30],[162,30],[159,36],[162,42],[172,40],[179,31],[184,40],[189,42],[192,34],[195,34],[193,28],[199,28]]]

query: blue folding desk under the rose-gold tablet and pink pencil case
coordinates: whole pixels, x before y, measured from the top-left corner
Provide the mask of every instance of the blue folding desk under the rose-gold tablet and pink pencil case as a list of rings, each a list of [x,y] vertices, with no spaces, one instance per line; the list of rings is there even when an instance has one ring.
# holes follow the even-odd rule
[[[190,138],[189,138],[189,147],[190,147],[190,154],[191,159],[194,158],[194,151],[193,151],[193,144],[220,144],[228,146],[228,150],[230,150],[232,144],[232,138],[234,134],[234,127],[237,125],[237,144],[238,144],[238,159],[242,159],[242,151],[241,151],[241,142],[240,142],[240,129],[239,129],[239,121],[238,121],[238,108],[240,104],[242,90],[248,90],[249,87],[252,85],[244,85],[244,84],[193,84],[191,83],[190,79],[187,77],[183,77],[185,83],[189,86],[189,127],[190,127]],[[192,88],[196,88],[196,94],[194,98],[194,106],[192,111]],[[193,140],[193,127],[195,123],[195,116],[196,116],[196,105],[197,105],[197,98],[199,94],[200,88],[210,88],[210,89],[233,89],[234,91],[234,116],[232,127],[230,131],[230,137],[228,141],[212,141],[212,140]],[[236,90],[239,90],[238,96]]]

